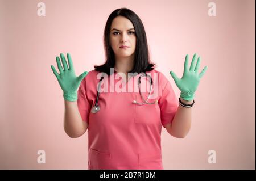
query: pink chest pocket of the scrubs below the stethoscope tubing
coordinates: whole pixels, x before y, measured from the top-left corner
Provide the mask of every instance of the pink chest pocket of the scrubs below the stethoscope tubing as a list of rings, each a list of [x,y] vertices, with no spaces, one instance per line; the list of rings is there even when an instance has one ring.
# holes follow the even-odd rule
[[[135,93],[135,100],[142,103],[139,93]],[[146,99],[145,99],[146,100]],[[155,102],[156,99],[148,99],[148,103]],[[158,124],[160,123],[160,108],[158,103],[155,104],[135,104],[135,123]]]

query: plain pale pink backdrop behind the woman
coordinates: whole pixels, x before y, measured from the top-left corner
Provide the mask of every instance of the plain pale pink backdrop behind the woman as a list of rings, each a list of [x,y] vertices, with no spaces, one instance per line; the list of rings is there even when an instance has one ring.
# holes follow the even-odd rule
[[[37,4],[46,4],[46,16]],[[216,3],[216,16],[208,3]],[[64,132],[55,57],[71,53],[76,74],[105,61],[103,31],[120,7],[142,19],[152,61],[174,87],[185,54],[208,70],[196,91],[192,127],[162,129],[164,169],[255,169],[255,1],[0,1],[0,169],[88,169],[87,132]],[[38,150],[46,163],[37,163]],[[208,151],[216,163],[208,163]]]

